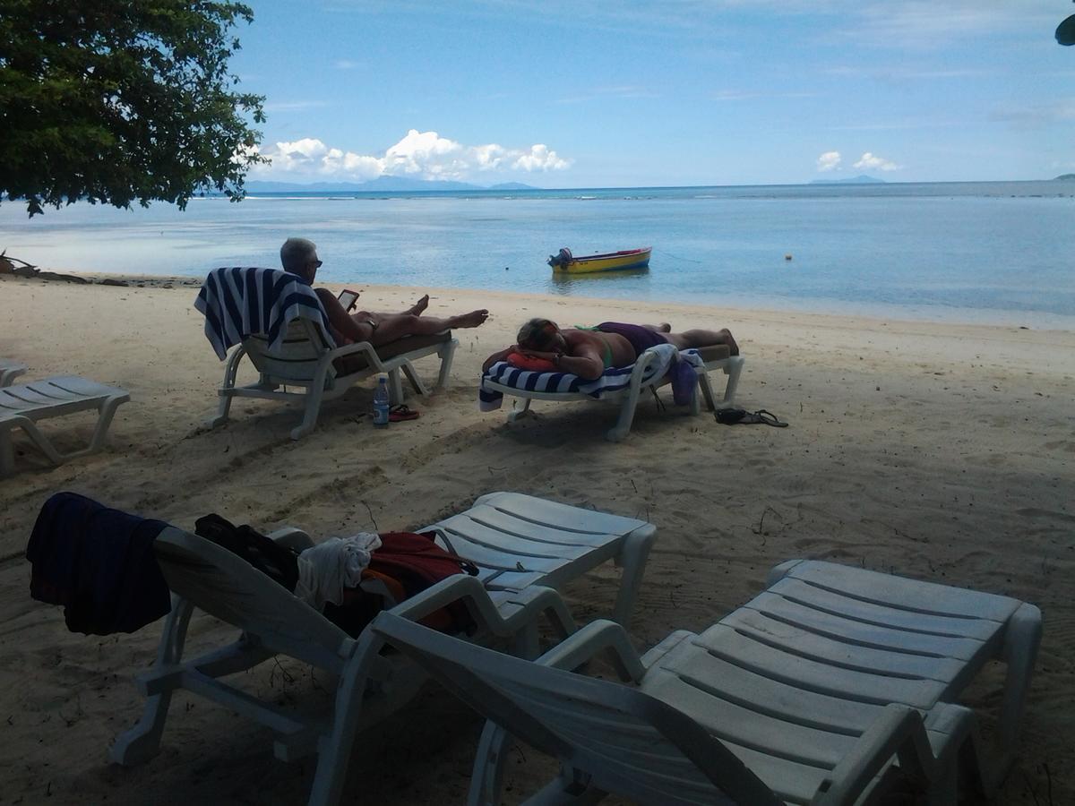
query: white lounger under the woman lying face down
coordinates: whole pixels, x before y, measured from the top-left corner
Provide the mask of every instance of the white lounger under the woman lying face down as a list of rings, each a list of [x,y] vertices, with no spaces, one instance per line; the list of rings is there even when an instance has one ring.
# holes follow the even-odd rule
[[[739,378],[745,361],[743,356],[730,355],[728,347],[725,345],[702,347],[694,350],[694,352],[697,352],[700,359],[698,365],[694,368],[698,386],[710,411],[732,405],[735,400],[735,390],[739,387]],[[639,360],[634,362],[630,369],[630,373],[625,373],[624,384],[593,391],[563,391],[565,383],[572,387],[578,385],[578,379],[574,376],[568,376],[568,379],[564,380],[564,376],[561,373],[512,371],[511,368],[506,368],[506,364],[503,368],[497,364],[491,366],[489,373],[482,377],[481,400],[483,401],[483,407],[488,411],[490,407],[499,406],[499,395],[506,394],[521,398],[524,401],[522,407],[513,406],[513,411],[507,415],[510,422],[514,422],[520,417],[526,416],[530,411],[531,402],[534,400],[560,402],[601,400],[617,403],[620,407],[619,419],[612,429],[605,432],[605,437],[611,442],[619,442],[631,430],[631,423],[634,421],[634,411],[639,404],[639,397],[647,389],[656,390],[669,383],[664,368],[668,365],[670,355],[674,354],[675,348],[671,345],[660,345],[647,349],[639,356]],[[504,368],[506,368],[506,372]],[[717,401],[713,386],[710,383],[710,373],[715,370],[720,370],[728,376],[723,397],[719,401]],[[543,383],[543,379],[539,377],[541,375],[546,376],[556,386],[551,387]],[[500,379],[498,380],[497,378]],[[588,389],[585,382],[583,383],[583,388]],[[496,402],[490,405],[490,400],[494,400]],[[698,395],[696,394],[691,403],[691,414],[697,415],[699,411],[701,409]]]

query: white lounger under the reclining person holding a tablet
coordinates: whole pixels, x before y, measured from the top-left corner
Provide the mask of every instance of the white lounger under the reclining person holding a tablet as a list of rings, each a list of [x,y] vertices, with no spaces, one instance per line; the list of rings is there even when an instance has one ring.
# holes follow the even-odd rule
[[[300,440],[314,430],[322,402],[339,398],[371,375],[388,375],[388,393],[392,403],[403,400],[401,371],[415,392],[429,394],[413,362],[435,354],[441,359],[441,371],[434,388],[447,386],[452,359],[459,341],[452,337],[450,331],[444,331],[429,336],[406,336],[379,347],[369,342],[343,347],[331,344],[324,328],[309,319],[296,319],[288,325],[287,335],[278,350],[270,350],[264,336],[247,336],[228,356],[224,385],[217,392],[219,407],[209,426],[216,428],[227,421],[235,398],[302,403],[302,422],[291,431],[291,438]],[[235,386],[235,375],[244,357],[258,370],[259,378],[248,386]],[[346,372],[336,369],[336,359],[346,361]],[[281,387],[285,388],[282,390]],[[305,391],[288,391],[286,387]]]

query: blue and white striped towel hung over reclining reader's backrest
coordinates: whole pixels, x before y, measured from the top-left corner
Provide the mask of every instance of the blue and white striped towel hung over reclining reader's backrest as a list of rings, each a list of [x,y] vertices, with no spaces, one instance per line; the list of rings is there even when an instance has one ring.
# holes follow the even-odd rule
[[[328,316],[310,284],[280,269],[214,269],[202,283],[195,307],[205,316],[205,337],[223,361],[228,348],[248,335],[263,335],[277,349],[291,319],[310,319],[332,341]]]

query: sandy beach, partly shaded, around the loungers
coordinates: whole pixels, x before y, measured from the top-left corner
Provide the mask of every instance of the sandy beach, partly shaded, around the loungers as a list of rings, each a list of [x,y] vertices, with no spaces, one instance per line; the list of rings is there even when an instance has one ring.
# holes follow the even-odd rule
[[[632,622],[640,648],[704,629],[789,558],[1029,601],[1043,610],[1044,639],[1020,759],[997,802],[1075,803],[1075,332],[366,286],[373,310],[401,310],[429,290],[431,314],[487,307],[491,318],[457,331],[448,389],[408,399],[419,419],[375,429],[370,382],[292,442],[297,411],[276,403],[240,401],[227,426],[204,428],[223,365],[191,306],[199,280],[128,280],[0,277],[0,356],[27,363],[26,379],[76,374],[131,393],[102,454],[52,469],[27,446],[16,475],[0,480],[5,803],[304,803],[313,769],[277,762],[267,731],[187,696],[173,700],[157,758],[131,769],[106,763],[112,738],[141,714],[133,676],[153,662],[160,631],[72,634],[60,608],[30,599],[26,542],[60,490],[188,529],[215,512],[316,537],[421,527],[493,490],[644,518],[658,537]],[[790,427],[692,418],[668,390],[666,411],[645,400],[620,444],[603,438],[613,407],[536,402],[536,416],[516,423],[506,406],[479,413],[482,360],[538,315],[728,327],[747,359],[740,404]],[[418,364],[430,379],[435,369]],[[90,422],[44,427],[70,446]],[[603,571],[567,590],[579,621],[607,614],[615,579]],[[200,615],[188,647],[232,634]],[[246,678],[282,703],[324,696],[300,664],[269,662]],[[987,675],[969,704],[988,714],[1002,682]],[[344,802],[463,803],[481,728],[427,686],[359,738]],[[505,802],[549,771],[535,751],[514,750]]]

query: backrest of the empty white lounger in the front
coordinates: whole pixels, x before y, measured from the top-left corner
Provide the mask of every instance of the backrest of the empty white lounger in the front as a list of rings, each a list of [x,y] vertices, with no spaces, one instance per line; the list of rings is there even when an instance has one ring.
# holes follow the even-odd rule
[[[461,642],[389,613],[372,629],[487,719],[597,789],[653,804],[777,804],[687,715],[627,686]]]

